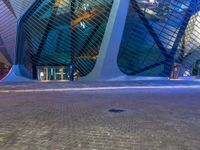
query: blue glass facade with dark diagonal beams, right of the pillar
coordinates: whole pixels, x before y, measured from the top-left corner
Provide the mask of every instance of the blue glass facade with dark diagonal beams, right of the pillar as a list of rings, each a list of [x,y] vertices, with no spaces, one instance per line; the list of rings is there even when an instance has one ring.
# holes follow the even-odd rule
[[[131,0],[118,55],[120,70],[127,75],[169,77],[179,64],[183,75],[183,65],[189,65],[186,55],[198,52],[194,45],[200,43],[198,5],[196,0]]]

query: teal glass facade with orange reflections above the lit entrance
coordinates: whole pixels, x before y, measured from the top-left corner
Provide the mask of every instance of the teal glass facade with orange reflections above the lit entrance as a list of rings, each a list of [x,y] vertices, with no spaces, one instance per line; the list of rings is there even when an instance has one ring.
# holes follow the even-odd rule
[[[80,76],[96,63],[112,0],[37,0],[20,23],[18,64],[74,65]],[[22,57],[23,56],[23,57]]]

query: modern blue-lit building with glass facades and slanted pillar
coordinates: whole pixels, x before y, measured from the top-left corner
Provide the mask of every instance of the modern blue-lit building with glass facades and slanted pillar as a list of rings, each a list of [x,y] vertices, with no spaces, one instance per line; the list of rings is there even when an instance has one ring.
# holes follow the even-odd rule
[[[1,0],[3,80],[200,76],[198,0]]]

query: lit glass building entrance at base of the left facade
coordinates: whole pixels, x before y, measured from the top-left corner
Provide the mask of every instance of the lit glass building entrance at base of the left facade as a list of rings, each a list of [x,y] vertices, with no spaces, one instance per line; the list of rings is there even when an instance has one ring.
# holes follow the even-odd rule
[[[70,67],[67,66],[38,66],[37,77],[40,81],[70,80]]]

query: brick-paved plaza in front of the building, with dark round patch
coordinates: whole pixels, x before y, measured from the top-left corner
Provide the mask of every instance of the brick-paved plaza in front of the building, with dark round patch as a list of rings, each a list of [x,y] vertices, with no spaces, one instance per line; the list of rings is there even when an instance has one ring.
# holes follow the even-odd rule
[[[167,86],[173,84],[168,82]],[[187,83],[191,87],[198,84]],[[84,90],[125,85],[128,83],[1,83],[0,149],[200,149],[198,86]],[[37,87],[63,91],[39,92]],[[76,87],[83,90],[66,90]]]

